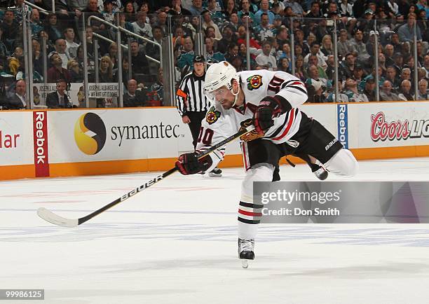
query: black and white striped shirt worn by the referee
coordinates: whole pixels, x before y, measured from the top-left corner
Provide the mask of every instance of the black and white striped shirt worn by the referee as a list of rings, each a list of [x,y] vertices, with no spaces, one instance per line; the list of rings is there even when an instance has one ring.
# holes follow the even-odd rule
[[[204,78],[196,76],[193,72],[186,74],[180,83],[176,93],[177,110],[180,116],[186,116],[188,112],[207,111],[210,102],[204,95]]]

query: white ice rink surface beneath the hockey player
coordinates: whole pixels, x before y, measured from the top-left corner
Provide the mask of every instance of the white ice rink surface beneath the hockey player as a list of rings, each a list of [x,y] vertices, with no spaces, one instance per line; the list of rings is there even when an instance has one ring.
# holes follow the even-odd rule
[[[429,158],[362,161],[353,179],[428,181],[428,172]],[[280,175],[316,181],[306,165]],[[36,215],[79,218],[155,176],[0,182],[0,289],[45,289],[43,303],[55,304],[429,303],[426,224],[263,224],[256,259],[241,268],[240,168],[174,174],[78,228]]]

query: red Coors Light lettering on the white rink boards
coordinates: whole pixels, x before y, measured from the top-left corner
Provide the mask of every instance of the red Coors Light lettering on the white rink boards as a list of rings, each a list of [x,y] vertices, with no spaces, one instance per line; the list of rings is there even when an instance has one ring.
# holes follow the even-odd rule
[[[387,122],[383,112],[371,116],[371,139],[373,141],[385,141],[389,139],[408,139],[429,137],[429,120],[406,120]]]

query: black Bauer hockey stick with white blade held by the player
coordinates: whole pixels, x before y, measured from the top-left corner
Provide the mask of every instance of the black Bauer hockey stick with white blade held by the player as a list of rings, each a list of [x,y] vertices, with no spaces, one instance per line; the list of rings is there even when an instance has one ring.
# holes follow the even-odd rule
[[[252,130],[254,130],[254,126],[250,125],[249,127],[246,127],[245,129],[238,131],[236,134],[233,134],[230,137],[228,137],[222,141],[219,141],[217,144],[215,144],[211,148],[207,149],[203,153],[198,154],[198,158],[203,158],[204,156],[207,156],[207,154],[212,153],[217,148],[220,148],[220,147],[228,144],[230,141],[233,141],[234,139],[237,139],[238,137],[240,137],[240,136],[242,136],[248,132],[251,132]],[[131,198],[132,195],[135,195],[135,194],[139,193],[140,191],[142,191],[146,188],[149,188],[150,186],[158,183],[158,181],[165,179],[165,177],[168,177],[170,174],[172,174],[176,171],[177,171],[177,167],[174,167],[174,168],[168,170],[167,172],[164,172],[163,174],[158,175],[158,177],[151,179],[146,184],[142,184],[142,186],[139,186],[139,187],[133,189],[132,191],[126,193],[125,195],[122,195],[121,198],[116,198],[116,200],[114,200],[113,202],[111,202],[111,203],[105,205],[104,207],[101,207],[100,209],[95,210],[95,212],[88,214],[87,216],[83,216],[79,219],[67,219],[67,218],[59,216],[59,215],[57,215],[57,214],[55,214],[55,213],[53,213],[53,212],[51,212],[48,209],[43,208],[43,207],[37,209],[37,215],[39,215],[45,221],[48,221],[49,223],[53,223],[54,225],[57,225],[57,226],[77,227],[77,226],[81,225],[81,223],[85,223],[86,221],[92,219],[94,216],[106,211],[107,209],[109,209],[111,207],[114,207],[114,205],[117,205],[120,202],[123,202],[124,200],[128,200],[128,198]]]

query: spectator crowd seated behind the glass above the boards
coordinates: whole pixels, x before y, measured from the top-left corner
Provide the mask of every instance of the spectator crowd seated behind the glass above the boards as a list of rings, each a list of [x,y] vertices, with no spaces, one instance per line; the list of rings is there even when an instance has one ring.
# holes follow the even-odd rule
[[[51,1],[32,2],[52,11]],[[19,9],[22,3],[22,0],[0,1],[3,6],[0,11],[3,97],[11,92],[15,94],[17,81],[25,78],[22,11]],[[84,64],[88,64],[90,82],[117,82],[121,64],[125,94],[128,94],[128,87],[131,88],[130,94],[124,95],[127,100],[139,95],[135,90],[157,92],[162,97],[162,70],[148,60],[148,57],[160,60],[159,49],[142,39],[130,40],[123,34],[121,43],[128,46],[130,55],[124,50],[123,60],[118,62],[116,43],[103,39],[95,43],[97,35],[116,41],[116,31],[112,27],[91,20],[82,37],[83,21],[95,15],[157,43],[168,34],[171,20],[177,85],[193,69],[196,37],[202,31],[205,59],[209,64],[227,60],[237,71],[242,71],[247,67],[248,51],[250,69],[287,71],[304,81],[308,102],[334,102],[336,99],[372,102],[376,100],[377,86],[380,100],[428,99],[427,0],[55,0],[55,13],[28,9],[34,83],[56,83],[59,79],[81,83]],[[336,45],[334,29],[338,37]],[[247,32],[250,34],[248,50]],[[83,60],[83,39],[88,62]],[[46,50],[43,50],[44,42]],[[414,50],[417,57],[414,57]],[[46,75],[43,56],[48,62]],[[378,57],[378,69],[375,57]],[[334,90],[335,62],[339,64],[338,97]],[[414,77],[416,66],[417,81]],[[379,83],[376,83],[376,74]],[[417,95],[414,88],[417,88]],[[132,99],[128,104],[142,106],[144,101],[136,104]]]

